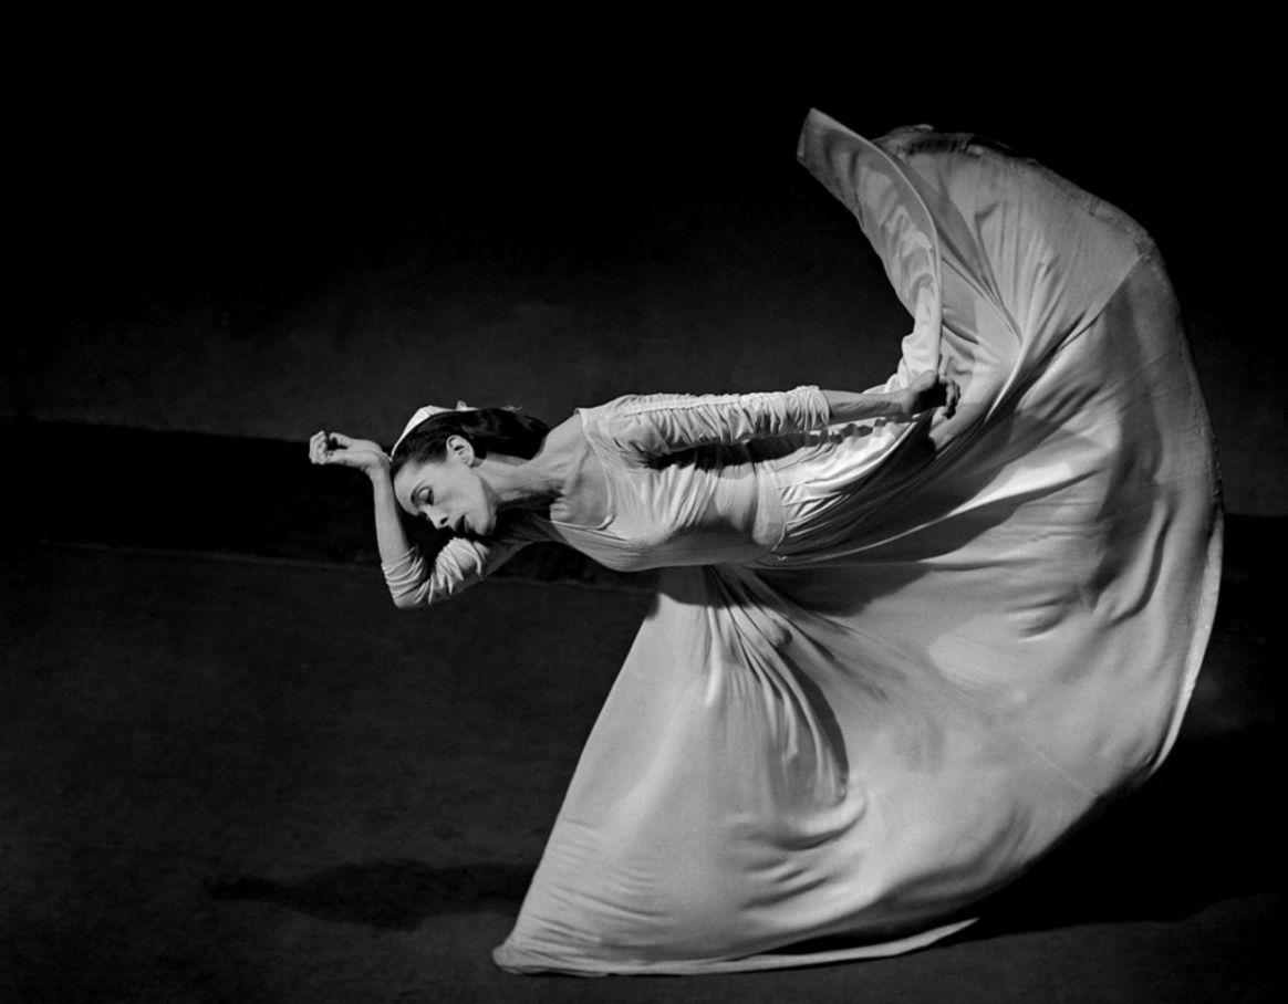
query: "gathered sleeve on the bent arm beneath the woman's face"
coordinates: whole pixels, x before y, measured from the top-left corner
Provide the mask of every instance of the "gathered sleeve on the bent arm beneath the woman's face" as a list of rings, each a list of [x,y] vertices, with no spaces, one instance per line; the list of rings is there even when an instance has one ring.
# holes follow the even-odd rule
[[[451,538],[433,561],[412,546],[394,561],[383,561],[381,572],[394,605],[410,610],[446,600],[491,575],[520,548],[545,539],[526,519],[509,523],[487,541]]]

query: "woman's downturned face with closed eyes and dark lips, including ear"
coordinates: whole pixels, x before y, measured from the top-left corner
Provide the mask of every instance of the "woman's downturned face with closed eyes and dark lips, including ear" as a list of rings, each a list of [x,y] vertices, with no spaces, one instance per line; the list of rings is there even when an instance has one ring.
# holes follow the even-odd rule
[[[496,528],[496,496],[477,470],[474,449],[462,436],[447,440],[442,461],[408,463],[394,478],[398,505],[440,530],[487,537]]]

